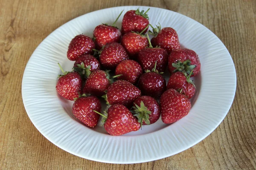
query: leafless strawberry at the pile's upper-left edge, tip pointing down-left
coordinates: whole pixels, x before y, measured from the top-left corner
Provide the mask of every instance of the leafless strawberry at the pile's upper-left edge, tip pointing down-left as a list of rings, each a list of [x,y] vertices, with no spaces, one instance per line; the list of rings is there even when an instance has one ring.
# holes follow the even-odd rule
[[[95,48],[95,44],[90,37],[83,34],[77,35],[71,40],[68,46],[67,58],[71,61],[75,61],[83,54],[91,54],[93,48]]]

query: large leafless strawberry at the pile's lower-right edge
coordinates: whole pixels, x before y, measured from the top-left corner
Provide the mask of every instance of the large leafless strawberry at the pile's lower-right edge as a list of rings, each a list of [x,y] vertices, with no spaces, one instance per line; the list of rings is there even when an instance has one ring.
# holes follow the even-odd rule
[[[174,123],[186,116],[191,108],[190,100],[180,92],[170,88],[160,98],[162,121]]]

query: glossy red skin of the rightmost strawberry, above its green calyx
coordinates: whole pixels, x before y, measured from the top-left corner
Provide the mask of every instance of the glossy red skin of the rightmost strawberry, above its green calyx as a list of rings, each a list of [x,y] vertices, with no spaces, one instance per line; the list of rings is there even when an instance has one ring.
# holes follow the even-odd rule
[[[184,62],[187,59],[191,61],[191,65],[196,66],[193,70],[193,74],[191,75],[191,77],[196,76],[200,71],[201,63],[198,54],[196,54],[195,51],[187,48],[180,48],[171,52],[168,58],[168,69],[170,73],[173,73],[173,71],[176,69],[172,66],[172,63],[176,63],[177,61]]]

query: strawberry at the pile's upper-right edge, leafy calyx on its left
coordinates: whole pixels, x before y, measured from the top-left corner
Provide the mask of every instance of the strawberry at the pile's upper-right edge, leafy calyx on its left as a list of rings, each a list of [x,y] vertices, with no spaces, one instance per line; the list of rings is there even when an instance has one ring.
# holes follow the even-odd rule
[[[160,48],[165,49],[168,53],[180,48],[178,34],[175,29],[170,27],[161,29],[160,24],[157,28],[154,28],[153,26],[151,27],[153,28],[153,31],[149,31],[149,33],[154,35],[151,39],[151,43],[154,47],[159,46]]]

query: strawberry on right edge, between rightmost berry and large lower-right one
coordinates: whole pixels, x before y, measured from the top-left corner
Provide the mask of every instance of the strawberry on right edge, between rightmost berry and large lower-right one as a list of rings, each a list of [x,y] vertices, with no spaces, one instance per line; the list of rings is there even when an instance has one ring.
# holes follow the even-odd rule
[[[193,71],[191,71],[191,73],[192,72]],[[177,91],[181,90],[182,94],[191,99],[195,94],[195,84],[190,79],[191,74],[189,76],[185,74],[179,71],[172,74],[167,83],[167,89],[173,88]]]

